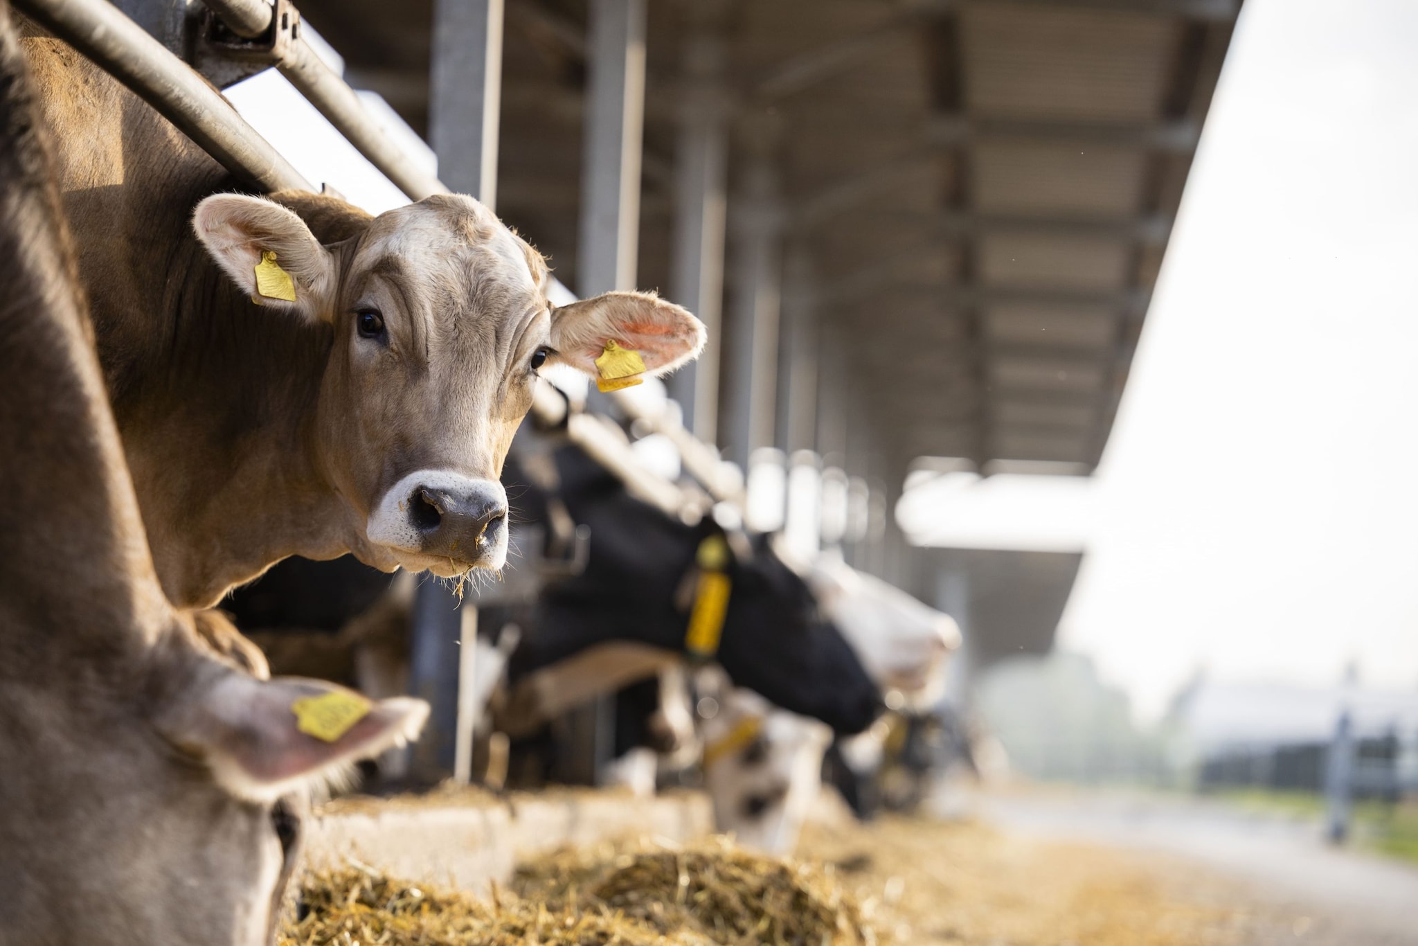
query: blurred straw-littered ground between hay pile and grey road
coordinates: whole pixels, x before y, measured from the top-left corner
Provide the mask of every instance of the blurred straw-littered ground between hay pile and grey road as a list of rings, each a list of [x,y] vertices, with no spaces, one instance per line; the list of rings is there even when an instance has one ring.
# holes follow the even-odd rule
[[[835,864],[913,946],[1370,946],[1181,859],[978,823],[834,818],[798,854]]]

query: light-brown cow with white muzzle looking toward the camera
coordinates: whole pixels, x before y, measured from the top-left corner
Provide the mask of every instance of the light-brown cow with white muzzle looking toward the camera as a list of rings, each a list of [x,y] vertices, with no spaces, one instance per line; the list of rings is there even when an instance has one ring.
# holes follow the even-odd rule
[[[221,167],[106,74],[52,38],[27,52],[177,604],[216,604],[291,555],[498,569],[498,474],[536,369],[596,374],[614,340],[659,374],[703,345],[703,326],[654,295],[554,309],[542,257],[471,197],[370,218],[333,197],[218,193],[234,186]],[[295,302],[252,302],[265,252]]]

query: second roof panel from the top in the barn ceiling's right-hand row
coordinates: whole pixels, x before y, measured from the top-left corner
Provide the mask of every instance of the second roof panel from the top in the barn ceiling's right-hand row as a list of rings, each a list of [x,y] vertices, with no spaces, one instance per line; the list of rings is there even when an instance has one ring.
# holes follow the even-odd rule
[[[976,145],[974,206],[988,211],[1127,217],[1143,199],[1146,155],[1122,148]]]

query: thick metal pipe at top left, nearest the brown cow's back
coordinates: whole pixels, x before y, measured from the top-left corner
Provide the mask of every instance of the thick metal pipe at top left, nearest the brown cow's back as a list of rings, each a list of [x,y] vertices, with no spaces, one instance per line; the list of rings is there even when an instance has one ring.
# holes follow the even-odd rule
[[[152,105],[223,167],[262,190],[313,190],[217,89],[105,0],[14,0]]]

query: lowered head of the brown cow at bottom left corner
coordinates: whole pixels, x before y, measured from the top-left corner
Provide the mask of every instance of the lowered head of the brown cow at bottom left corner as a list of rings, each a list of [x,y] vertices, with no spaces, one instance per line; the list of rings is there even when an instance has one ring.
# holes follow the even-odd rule
[[[309,793],[413,738],[428,712],[257,681],[177,635],[133,675],[79,692],[0,699],[3,943],[268,946]],[[320,718],[294,708],[332,696],[364,715],[337,735],[316,726],[333,740],[309,735],[329,703]]]

